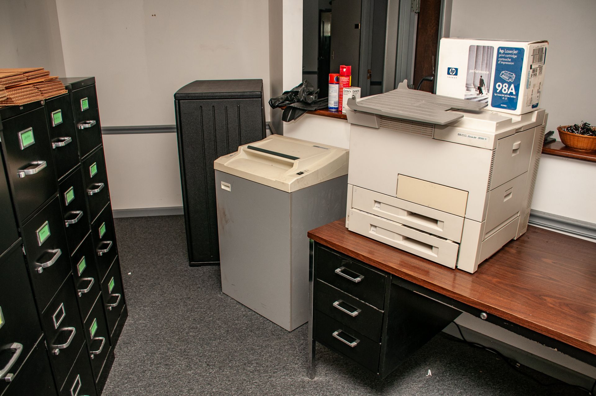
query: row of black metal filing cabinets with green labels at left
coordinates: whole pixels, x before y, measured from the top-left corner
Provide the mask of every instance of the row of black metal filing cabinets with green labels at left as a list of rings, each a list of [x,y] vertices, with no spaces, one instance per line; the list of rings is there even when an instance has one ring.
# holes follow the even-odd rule
[[[62,81],[0,109],[1,396],[100,395],[128,316],[95,79]]]

